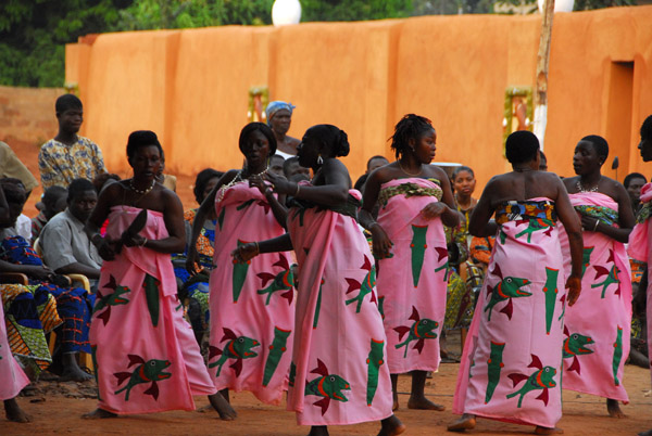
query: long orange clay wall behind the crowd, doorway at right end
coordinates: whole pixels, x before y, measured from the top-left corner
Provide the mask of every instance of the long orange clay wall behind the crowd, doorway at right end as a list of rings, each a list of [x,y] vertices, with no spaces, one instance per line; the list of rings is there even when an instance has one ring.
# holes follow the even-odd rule
[[[551,47],[546,153],[573,174],[586,134],[605,136],[618,179],[648,172],[636,146],[652,114],[652,7],[557,13]],[[534,86],[540,16],[428,16],[281,28],[227,26],[105,34],[66,47],[66,80],[85,104],[83,134],[111,170],[127,166],[127,136],[159,133],[168,171],[238,168],[248,91],[297,105],[290,134],[319,123],[349,133],[355,179],[405,113],[430,118],[436,161],[473,167],[479,185],[509,169],[505,89]],[[610,165],[604,174],[614,177]],[[479,195],[479,192],[477,192]]]

